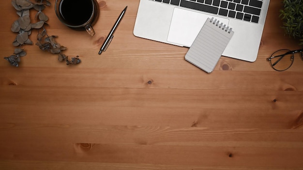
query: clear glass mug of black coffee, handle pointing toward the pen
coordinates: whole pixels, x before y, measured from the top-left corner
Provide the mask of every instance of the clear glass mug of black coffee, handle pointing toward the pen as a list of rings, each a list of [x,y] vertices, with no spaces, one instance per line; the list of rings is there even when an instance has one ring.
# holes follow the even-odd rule
[[[69,28],[84,30],[93,36],[92,25],[99,17],[96,0],[56,0],[55,12],[59,20]]]

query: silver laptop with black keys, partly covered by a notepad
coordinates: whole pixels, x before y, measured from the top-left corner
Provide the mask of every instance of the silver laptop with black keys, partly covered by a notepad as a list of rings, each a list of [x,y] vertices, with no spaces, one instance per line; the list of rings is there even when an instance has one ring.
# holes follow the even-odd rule
[[[213,17],[234,31],[222,56],[254,62],[269,3],[270,0],[140,0],[134,35],[190,47],[207,18]]]

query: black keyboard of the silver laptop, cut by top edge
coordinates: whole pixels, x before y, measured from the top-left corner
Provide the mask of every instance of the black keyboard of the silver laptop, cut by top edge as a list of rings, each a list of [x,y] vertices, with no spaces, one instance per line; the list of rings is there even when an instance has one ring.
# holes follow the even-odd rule
[[[153,0],[210,14],[258,23],[263,0]]]

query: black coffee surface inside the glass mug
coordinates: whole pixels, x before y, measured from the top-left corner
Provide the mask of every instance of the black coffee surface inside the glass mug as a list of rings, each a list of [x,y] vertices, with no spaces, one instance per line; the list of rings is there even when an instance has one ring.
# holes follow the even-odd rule
[[[93,2],[92,0],[61,0],[59,12],[67,24],[80,26],[90,20]]]

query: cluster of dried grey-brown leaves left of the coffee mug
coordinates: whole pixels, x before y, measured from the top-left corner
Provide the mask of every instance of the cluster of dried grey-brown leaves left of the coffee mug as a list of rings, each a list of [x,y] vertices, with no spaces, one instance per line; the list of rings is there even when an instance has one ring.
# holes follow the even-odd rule
[[[56,42],[55,38],[58,36],[48,36],[46,34],[45,24],[47,24],[46,21],[48,21],[48,16],[42,11],[46,6],[51,5],[49,0],[35,0],[35,2],[31,2],[30,0],[11,0],[11,3],[15,10],[17,10],[16,14],[19,16],[19,18],[14,21],[11,28],[12,32],[17,33],[13,42],[14,46],[17,47],[24,44],[33,44],[29,39],[32,29],[42,29],[41,33],[38,31],[38,42],[36,43],[41,50],[48,51],[52,54],[58,54],[58,60],[66,61],[67,65],[78,64],[81,62],[79,56],[72,57],[72,59],[69,60],[68,56],[62,53],[62,51],[66,50],[66,47],[61,46],[60,43]],[[35,20],[38,20],[36,23],[31,23],[30,9],[38,11],[35,15]],[[24,57],[26,54],[27,53],[24,49],[15,48],[14,55],[4,57],[4,59],[12,66],[18,67],[19,62],[21,61],[20,57]]]

